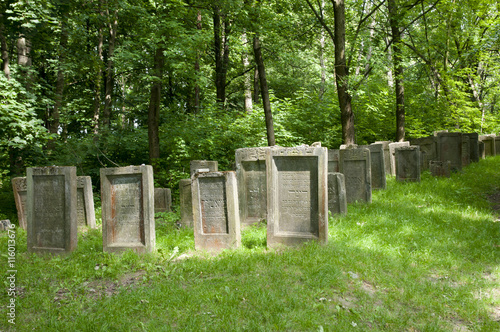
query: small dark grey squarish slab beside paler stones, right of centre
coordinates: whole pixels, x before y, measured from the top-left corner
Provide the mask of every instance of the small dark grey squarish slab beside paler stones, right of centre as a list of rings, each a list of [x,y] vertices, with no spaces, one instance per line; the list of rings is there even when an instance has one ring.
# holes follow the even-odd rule
[[[420,147],[396,148],[396,181],[420,182]]]

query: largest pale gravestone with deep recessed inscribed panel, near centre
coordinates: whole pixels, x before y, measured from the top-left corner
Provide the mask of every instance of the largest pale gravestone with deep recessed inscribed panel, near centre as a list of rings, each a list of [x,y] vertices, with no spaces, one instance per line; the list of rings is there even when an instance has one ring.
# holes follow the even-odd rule
[[[323,147],[267,151],[267,246],[328,240],[328,157]]]

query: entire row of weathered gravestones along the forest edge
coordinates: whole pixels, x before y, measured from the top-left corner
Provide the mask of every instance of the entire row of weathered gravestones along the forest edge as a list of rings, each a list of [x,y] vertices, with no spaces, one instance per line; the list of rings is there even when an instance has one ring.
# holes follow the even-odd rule
[[[385,188],[386,173],[400,181],[419,181],[421,159],[430,159],[431,168],[446,163],[461,169],[481,151],[494,154],[496,140],[491,137],[479,141],[477,134],[438,133],[414,141],[414,146],[376,142],[329,151],[320,145],[244,148],[236,151],[236,172],[217,172],[217,162],[193,161],[191,179],[180,182],[181,223],[194,226],[197,249],[239,246],[240,220],[247,225],[267,219],[271,247],[310,239],[326,242],[328,209],[346,213],[348,202],[370,202],[372,187]],[[436,154],[429,146],[436,147]],[[151,166],[101,170],[105,251],[154,249],[153,202],[170,204],[171,198],[169,189],[152,190],[152,178]],[[16,204],[20,182],[13,180]],[[17,205],[18,211],[19,206],[26,209],[29,250],[74,249],[78,225],[95,226],[90,178],[76,177],[74,167],[44,167],[28,168],[25,182],[27,207]]]

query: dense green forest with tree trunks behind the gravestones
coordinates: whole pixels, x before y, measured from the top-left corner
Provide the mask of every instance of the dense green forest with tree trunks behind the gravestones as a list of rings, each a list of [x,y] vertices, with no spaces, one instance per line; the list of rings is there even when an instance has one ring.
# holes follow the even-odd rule
[[[3,0],[0,219],[25,167],[500,131],[496,0]],[[174,195],[175,196],[175,195]]]

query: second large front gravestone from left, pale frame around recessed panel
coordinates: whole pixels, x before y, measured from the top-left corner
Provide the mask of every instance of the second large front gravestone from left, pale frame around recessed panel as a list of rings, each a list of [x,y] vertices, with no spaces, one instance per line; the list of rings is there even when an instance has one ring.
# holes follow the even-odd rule
[[[155,250],[150,165],[101,168],[102,239],[106,252]]]

